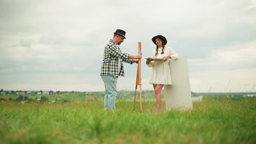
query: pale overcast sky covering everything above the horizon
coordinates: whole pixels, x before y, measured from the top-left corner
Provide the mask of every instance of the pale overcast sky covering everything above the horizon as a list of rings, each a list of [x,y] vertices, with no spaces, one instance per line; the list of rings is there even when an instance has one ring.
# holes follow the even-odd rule
[[[13,1],[0,0],[0,88],[104,91],[104,46],[126,31],[123,52],[142,42],[142,90],[152,37],[188,57],[191,91],[256,91],[256,1]],[[135,90],[137,65],[124,63],[118,90]]]

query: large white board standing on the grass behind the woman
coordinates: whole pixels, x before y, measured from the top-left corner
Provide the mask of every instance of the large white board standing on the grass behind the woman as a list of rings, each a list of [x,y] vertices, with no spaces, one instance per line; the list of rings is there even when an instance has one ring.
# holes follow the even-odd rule
[[[172,85],[164,87],[166,110],[192,109],[187,57],[171,59],[169,66],[171,69]]]

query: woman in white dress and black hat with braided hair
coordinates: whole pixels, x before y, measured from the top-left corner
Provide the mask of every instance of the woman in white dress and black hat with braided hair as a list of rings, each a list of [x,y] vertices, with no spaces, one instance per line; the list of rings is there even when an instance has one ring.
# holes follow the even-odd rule
[[[156,110],[161,111],[161,90],[164,85],[172,85],[171,71],[168,63],[171,59],[179,57],[178,53],[165,46],[167,40],[162,35],[156,35],[152,38],[156,48],[153,50],[152,58],[162,58],[162,61],[152,61],[147,59],[146,64],[152,67],[149,83],[153,84],[156,99]]]

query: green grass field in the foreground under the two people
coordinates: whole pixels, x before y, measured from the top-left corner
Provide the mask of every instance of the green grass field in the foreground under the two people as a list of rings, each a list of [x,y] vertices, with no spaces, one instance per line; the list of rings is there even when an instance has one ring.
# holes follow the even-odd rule
[[[54,98],[53,98],[54,99]],[[204,99],[193,110],[155,111],[155,101],[0,102],[0,143],[256,143],[256,99]],[[165,107],[162,101],[162,107]]]

